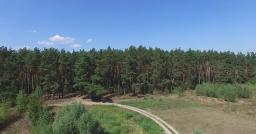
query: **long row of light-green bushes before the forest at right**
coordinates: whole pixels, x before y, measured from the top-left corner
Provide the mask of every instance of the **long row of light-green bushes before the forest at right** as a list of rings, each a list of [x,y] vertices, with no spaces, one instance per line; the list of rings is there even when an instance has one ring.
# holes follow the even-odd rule
[[[235,102],[237,98],[251,98],[252,90],[237,83],[203,83],[196,86],[196,94]]]

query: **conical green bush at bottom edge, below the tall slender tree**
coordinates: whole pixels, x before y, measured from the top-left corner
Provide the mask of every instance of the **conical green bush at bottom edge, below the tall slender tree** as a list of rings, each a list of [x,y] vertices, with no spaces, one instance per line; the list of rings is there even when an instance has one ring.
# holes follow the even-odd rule
[[[48,106],[44,106],[40,112],[39,119],[35,125],[32,126],[32,134],[53,134],[52,129],[52,113]]]

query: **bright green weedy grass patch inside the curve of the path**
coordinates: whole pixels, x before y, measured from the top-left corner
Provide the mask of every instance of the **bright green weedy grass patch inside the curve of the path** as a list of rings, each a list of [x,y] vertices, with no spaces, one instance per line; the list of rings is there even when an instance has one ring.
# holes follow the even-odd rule
[[[109,134],[164,134],[163,129],[151,119],[116,106],[91,106],[89,113]]]

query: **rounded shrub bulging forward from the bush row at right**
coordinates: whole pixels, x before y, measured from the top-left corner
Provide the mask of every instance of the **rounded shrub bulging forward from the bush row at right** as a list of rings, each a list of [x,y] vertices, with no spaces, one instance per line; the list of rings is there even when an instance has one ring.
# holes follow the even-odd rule
[[[224,99],[225,101],[235,102],[237,98],[237,93],[232,86],[229,84],[224,87]]]

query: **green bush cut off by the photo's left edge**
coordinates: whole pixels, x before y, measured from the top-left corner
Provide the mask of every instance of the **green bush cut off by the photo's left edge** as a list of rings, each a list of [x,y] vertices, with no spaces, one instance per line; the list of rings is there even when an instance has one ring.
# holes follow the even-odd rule
[[[11,101],[3,99],[0,107],[0,128],[5,125],[11,118],[10,107]]]

